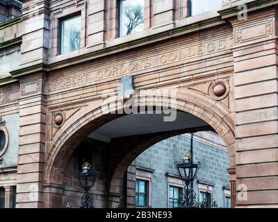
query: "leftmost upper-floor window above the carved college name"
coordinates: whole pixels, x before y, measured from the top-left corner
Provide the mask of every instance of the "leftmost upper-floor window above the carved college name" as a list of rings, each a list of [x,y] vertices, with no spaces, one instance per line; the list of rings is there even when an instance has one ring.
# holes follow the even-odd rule
[[[80,49],[81,40],[81,15],[64,19],[61,22],[60,53]]]

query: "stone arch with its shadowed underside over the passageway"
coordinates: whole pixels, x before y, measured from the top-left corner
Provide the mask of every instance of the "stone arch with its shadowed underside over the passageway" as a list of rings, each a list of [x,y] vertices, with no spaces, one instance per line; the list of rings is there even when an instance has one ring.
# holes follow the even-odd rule
[[[133,110],[156,109],[161,101],[156,96],[134,96]],[[49,142],[49,155],[44,168],[44,203],[46,207],[58,207],[62,204],[65,188],[65,173],[70,157],[84,139],[98,139],[106,142],[102,153],[102,168],[105,189],[102,207],[111,207],[112,202],[119,202],[122,192],[122,178],[131,162],[149,146],[167,137],[181,133],[193,133],[199,130],[213,130],[222,137],[227,146],[231,167],[234,167],[234,123],[231,114],[224,106],[196,94],[190,89],[179,89],[175,96],[159,95],[167,105],[165,108],[176,112],[174,121],[163,121],[163,114],[123,114],[119,113],[124,105],[122,101],[104,101],[104,105],[89,105],[77,111],[65,121],[57,131],[54,140]],[[120,105],[119,105],[120,104]],[[136,105],[135,105],[136,104]],[[156,110],[154,109],[154,110]],[[135,130],[134,130],[135,129]],[[108,144],[108,145],[107,145]],[[51,145],[51,146],[50,146]],[[99,160],[100,160],[99,159]],[[56,187],[56,203],[53,205],[53,192]],[[57,201],[57,199],[60,201]]]

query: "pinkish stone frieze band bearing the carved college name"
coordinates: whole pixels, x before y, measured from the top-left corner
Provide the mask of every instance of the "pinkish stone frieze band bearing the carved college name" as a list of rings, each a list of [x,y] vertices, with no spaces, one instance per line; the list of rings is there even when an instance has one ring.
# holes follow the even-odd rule
[[[131,60],[101,62],[93,64],[88,73],[72,74],[71,76],[55,76],[47,81],[47,93],[69,89],[85,83],[101,83],[126,75],[136,75],[147,71],[163,71],[164,69],[189,64],[197,60],[226,53],[231,49],[232,36],[225,34],[213,39],[202,40],[190,44],[180,44],[172,49],[161,49],[147,56],[138,56]],[[113,63],[113,65],[111,65]],[[94,69],[94,66],[96,68]]]

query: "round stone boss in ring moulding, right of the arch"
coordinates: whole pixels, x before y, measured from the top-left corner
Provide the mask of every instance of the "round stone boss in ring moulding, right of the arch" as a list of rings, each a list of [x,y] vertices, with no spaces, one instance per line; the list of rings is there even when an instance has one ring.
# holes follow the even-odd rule
[[[229,83],[227,80],[216,80],[208,87],[208,94],[212,99],[220,101],[229,94]]]

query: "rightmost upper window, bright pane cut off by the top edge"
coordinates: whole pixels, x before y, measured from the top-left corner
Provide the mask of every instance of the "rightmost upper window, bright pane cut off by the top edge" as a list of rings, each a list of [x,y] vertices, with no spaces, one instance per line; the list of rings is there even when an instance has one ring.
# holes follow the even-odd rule
[[[222,8],[222,0],[191,0],[191,15]]]

